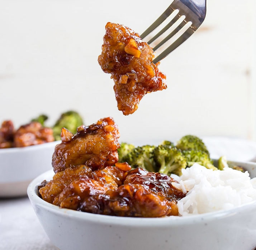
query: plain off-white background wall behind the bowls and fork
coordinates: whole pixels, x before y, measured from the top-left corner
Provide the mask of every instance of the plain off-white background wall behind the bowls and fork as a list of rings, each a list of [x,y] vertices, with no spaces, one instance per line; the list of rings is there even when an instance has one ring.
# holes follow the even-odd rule
[[[87,125],[114,117],[121,140],[134,143],[189,133],[255,140],[255,0],[208,0],[200,30],[161,62],[167,90],[147,94],[132,115],[117,110],[97,62],[105,24],[142,33],[169,3],[0,0],[0,122],[43,112],[52,124],[75,109]]]

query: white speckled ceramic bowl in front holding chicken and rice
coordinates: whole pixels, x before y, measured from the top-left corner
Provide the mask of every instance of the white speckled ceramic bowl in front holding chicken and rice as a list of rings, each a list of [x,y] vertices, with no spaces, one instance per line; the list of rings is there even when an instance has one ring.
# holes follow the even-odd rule
[[[238,165],[256,176],[256,163]],[[38,184],[51,180],[48,171],[28,186],[28,196],[49,239],[61,250],[251,250],[256,246],[256,202],[227,211],[186,217],[124,218],[61,209],[38,196]]]

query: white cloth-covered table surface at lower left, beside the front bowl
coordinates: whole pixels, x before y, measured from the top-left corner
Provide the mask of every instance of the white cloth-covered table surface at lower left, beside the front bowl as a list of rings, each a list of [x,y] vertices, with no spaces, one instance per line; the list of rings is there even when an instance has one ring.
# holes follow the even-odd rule
[[[28,197],[0,200],[0,250],[56,250]]]

